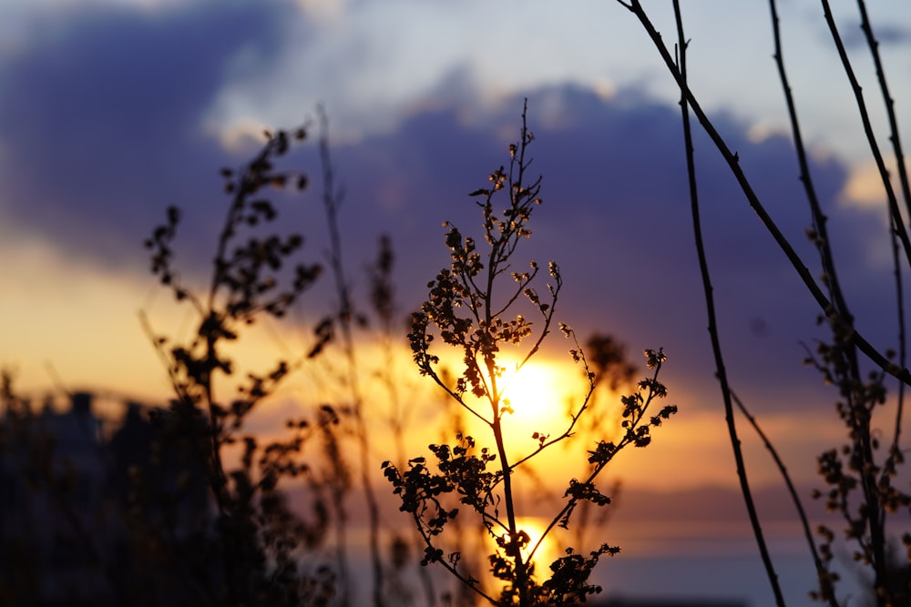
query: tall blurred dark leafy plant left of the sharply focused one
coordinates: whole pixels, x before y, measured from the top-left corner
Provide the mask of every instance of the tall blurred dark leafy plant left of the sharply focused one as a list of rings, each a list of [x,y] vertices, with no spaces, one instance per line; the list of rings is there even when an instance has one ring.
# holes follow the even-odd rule
[[[285,266],[302,247],[300,234],[258,236],[256,228],[278,216],[265,197],[269,188],[303,189],[307,179],[281,171],[275,162],[292,144],[306,137],[304,127],[289,134],[267,133],[268,141],[240,171],[222,169],[230,205],[220,231],[212,275],[206,291],[197,294],[180,280],[173,265],[171,242],[180,211],[169,207],[167,221],[146,241],[152,272],[175,298],[189,302],[197,315],[197,329],[187,342],[154,334],[149,336],[168,369],[175,392],[169,411],[159,416],[161,449],[175,442],[187,444],[201,462],[201,473],[215,507],[211,533],[213,556],[220,563],[211,599],[218,604],[325,604],[335,591],[333,573],[302,571],[298,557],[322,541],[328,511],[314,506],[314,520],[304,522],[289,510],[279,483],[306,475],[300,460],[312,424],[288,422],[289,437],[262,445],[241,434],[248,415],[268,397],[292,370],[281,360],[265,372],[248,372],[236,384],[236,396],[226,401],[217,394],[219,377],[235,374],[234,364],[221,351],[240,339],[244,327],[262,315],[281,318],[321,274],[317,264],[297,263],[292,275]],[[249,236],[244,232],[249,230]],[[284,273],[283,273],[284,272]],[[311,355],[317,353],[316,349]],[[295,363],[296,364],[296,363]],[[331,423],[332,416],[319,420]],[[240,465],[226,469],[225,452],[238,445]]]

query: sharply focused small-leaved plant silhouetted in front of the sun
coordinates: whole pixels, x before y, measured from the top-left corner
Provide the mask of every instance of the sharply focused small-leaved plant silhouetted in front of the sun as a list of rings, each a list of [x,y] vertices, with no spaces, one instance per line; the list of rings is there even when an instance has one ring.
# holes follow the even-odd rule
[[[515,414],[509,401],[508,370],[501,362],[505,349],[520,350],[521,369],[541,348],[551,332],[554,313],[563,281],[558,265],[548,263],[547,295],[538,293],[540,267],[530,262],[525,271],[513,269],[518,243],[531,235],[527,224],[532,211],[541,200],[538,197],[541,179],[529,181],[527,156],[534,140],[527,128],[526,111],[522,113],[519,141],[509,146],[509,165],[499,167],[489,177],[489,187],[471,194],[477,197],[481,210],[484,245],[474,238],[464,237],[458,228],[446,222],[446,247],[452,263],[441,269],[428,283],[429,298],[412,316],[409,334],[415,363],[420,372],[455,400],[467,413],[481,420],[489,430],[493,446],[476,442],[464,432],[455,434],[453,444],[429,446],[433,457],[428,461],[418,457],[408,461],[400,470],[390,461],[383,468],[394,492],[402,501],[401,510],[412,515],[417,530],[425,541],[422,564],[440,563],[460,581],[488,602],[502,605],[575,604],[600,591],[589,583],[589,573],[599,558],[613,555],[618,547],[601,544],[588,555],[572,549],[567,555],[550,564],[548,579],[539,582],[535,569],[535,553],[555,526],[567,528],[573,511],[582,501],[597,506],[609,504],[609,497],[599,492],[595,480],[609,462],[629,445],[645,447],[650,443],[650,430],[670,418],[676,407],[665,406],[647,417],[654,400],[663,398],[667,390],[658,380],[664,354],[646,350],[647,364],[653,369],[650,378],[642,379],[639,391],[622,398],[621,438],[599,440],[588,451],[590,471],[582,481],[571,479],[564,493],[565,504],[549,522],[537,542],[519,524],[517,488],[514,472],[554,444],[572,436],[579,418],[586,412],[595,388],[595,373],[589,369],[585,354],[578,346],[575,333],[568,325],[559,329],[571,339],[573,359],[585,369],[588,391],[578,408],[572,412],[568,425],[557,435],[540,429],[530,437],[532,450],[516,457],[507,450],[505,429],[508,416]],[[502,212],[495,209],[495,198],[501,192],[508,197]],[[508,278],[512,279],[510,283]],[[506,284],[504,284],[506,283]],[[540,323],[527,319],[519,310],[530,314]],[[537,329],[537,330],[536,330]],[[462,361],[461,375],[455,385],[445,379],[440,366],[441,353],[435,341],[458,352]],[[526,345],[530,342],[530,346]],[[460,566],[461,553],[445,551],[441,543],[447,527],[459,515],[461,504],[474,511],[480,524],[496,543],[489,555],[490,572],[500,583],[498,595],[487,592],[479,580]],[[505,509],[505,514],[501,511]]]

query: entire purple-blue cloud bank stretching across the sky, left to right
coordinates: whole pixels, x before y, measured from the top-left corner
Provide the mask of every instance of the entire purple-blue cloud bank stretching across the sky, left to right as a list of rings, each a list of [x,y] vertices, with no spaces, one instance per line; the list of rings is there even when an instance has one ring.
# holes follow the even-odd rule
[[[191,270],[205,266],[224,203],[216,171],[238,158],[205,137],[200,119],[239,53],[258,57],[250,69],[275,56],[283,17],[262,6],[213,6],[155,19],[126,11],[82,15],[7,64],[0,76],[7,92],[0,101],[0,138],[9,151],[2,185],[7,216],[55,239],[67,254],[144,268],[138,243],[164,207],[179,204],[189,218],[184,261]],[[665,347],[672,388],[700,400],[693,407],[718,406],[678,109],[629,91],[605,100],[574,86],[527,96],[537,135],[533,170],[544,175],[545,202],[517,266],[531,258],[557,260],[566,280],[560,319],[583,337],[613,332],[633,352]],[[360,268],[373,256],[376,237],[387,232],[399,259],[404,309],[415,307],[426,281],[447,262],[442,221],[465,232],[477,225],[467,193],[507,162],[522,106],[515,96],[466,117],[464,107],[447,104],[438,91],[436,97],[435,109],[415,111],[393,132],[333,150],[346,190],[343,230],[355,288],[363,291]],[[754,142],[731,116],[716,120],[768,210],[814,267],[789,139]],[[814,302],[706,137],[698,135],[696,143],[702,221],[732,379],[763,407],[803,406],[821,392],[800,388],[812,373],[799,367],[798,342],[814,337]],[[312,148],[292,160],[318,174]],[[834,208],[844,167],[816,161],[813,170],[825,204]],[[313,191],[282,207],[283,225],[310,238],[311,257],[325,246],[318,200]],[[834,212],[832,227],[845,272],[859,277],[846,282],[855,296],[863,294],[856,297],[861,326],[885,339],[870,302],[882,300],[877,289],[887,274],[866,267],[862,255],[882,228],[860,210]],[[810,385],[821,382],[811,377]]]

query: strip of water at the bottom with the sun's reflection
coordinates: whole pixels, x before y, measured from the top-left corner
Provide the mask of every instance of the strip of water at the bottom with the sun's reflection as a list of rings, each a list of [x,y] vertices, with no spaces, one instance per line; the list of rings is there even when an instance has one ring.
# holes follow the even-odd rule
[[[539,518],[520,521],[532,541],[537,540],[537,533],[545,524],[547,521]],[[704,599],[740,601],[744,607],[772,605],[773,593],[755,542],[742,530],[742,524],[727,521],[610,525],[603,539],[600,533],[593,533],[592,537],[619,545],[622,551],[612,558],[602,557],[590,581],[603,588],[599,598]],[[815,574],[798,526],[771,523],[766,532],[789,607],[818,605],[807,594],[812,590]],[[358,534],[358,540],[362,537],[365,549],[365,533]],[[587,546],[585,551],[590,549]],[[547,540],[539,552],[537,572],[543,577],[549,572],[549,563],[562,556],[563,551],[557,541]],[[363,556],[357,559],[353,572],[354,579],[369,579],[368,563]],[[443,573],[438,571],[434,575],[441,587],[452,582]],[[843,574],[843,578],[839,596],[856,597],[858,582],[850,575]]]

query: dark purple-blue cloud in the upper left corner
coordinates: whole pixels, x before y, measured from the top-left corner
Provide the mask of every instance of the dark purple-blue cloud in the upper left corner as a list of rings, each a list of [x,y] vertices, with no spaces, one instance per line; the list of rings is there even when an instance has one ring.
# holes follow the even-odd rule
[[[249,3],[54,15],[0,71],[5,214],[64,248],[138,250],[163,207],[217,191],[201,119],[236,57],[271,61],[281,22]]]

